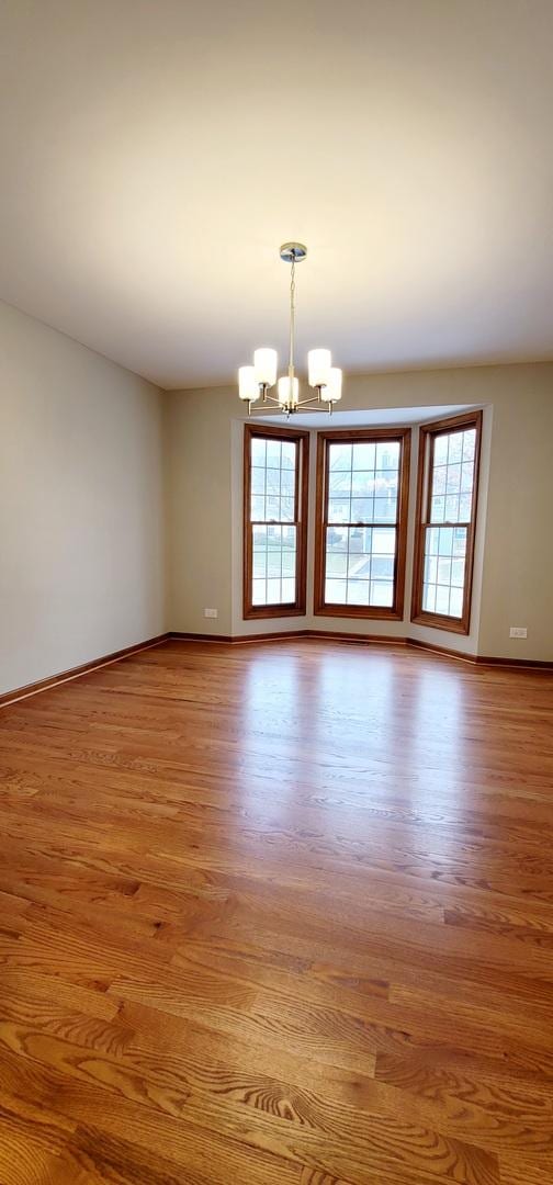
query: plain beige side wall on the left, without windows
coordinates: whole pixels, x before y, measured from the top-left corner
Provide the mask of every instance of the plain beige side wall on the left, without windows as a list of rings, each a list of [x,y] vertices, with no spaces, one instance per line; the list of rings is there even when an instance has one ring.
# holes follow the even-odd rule
[[[165,628],[162,395],[0,303],[0,693]]]

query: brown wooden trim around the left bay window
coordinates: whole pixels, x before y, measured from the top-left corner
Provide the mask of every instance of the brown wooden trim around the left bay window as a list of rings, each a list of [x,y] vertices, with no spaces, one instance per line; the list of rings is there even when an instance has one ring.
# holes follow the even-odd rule
[[[300,463],[296,467],[296,517],[294,523],[287,524],[296,526],[296,601],[294,604],[262,604],[252,603],[252,578],[253,578],[253,525],[250,520],[251,498],[251,441],[253,437],[264,440],[292,440],[298,444]],[[300,617],[307,611],[307,532],[308,532],[308,506],[309,506],[309,433],[291,428],[274,428],[264,424],[244,425],[244,536],[243,536],[243,617],[245,621],[259,617]]]

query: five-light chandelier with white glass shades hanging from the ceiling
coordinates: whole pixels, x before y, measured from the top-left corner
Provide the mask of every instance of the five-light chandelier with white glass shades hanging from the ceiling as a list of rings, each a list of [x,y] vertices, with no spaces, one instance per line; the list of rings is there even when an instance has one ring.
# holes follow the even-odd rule
[[[240,366],[238,371],[238,395],[244,403],[247,403],[247,415],[252,408],[257,410],[277,406],[288,417],[300,408],[307,411],[317,411],[321,408],[332,414],[333,404],[342,397],[342,372],[337,366],[332,365],[329,350],[310,350],[308,360],[308,378],[316,395],[307,399],[300,398],[300,379],[295,374],[294,348],[295,348],[295,319],[296,319],[296,263],[301,263],[307,256],[307,246],[302,243],[283,243],[281,246],[281,260],[291,264],[290,275],[290,347],[288,357],[288,373],[277,383],[277,352],[263,347],[253,353],[253,366]],[[277,395],[269,395],[271,387],[277,383]]]

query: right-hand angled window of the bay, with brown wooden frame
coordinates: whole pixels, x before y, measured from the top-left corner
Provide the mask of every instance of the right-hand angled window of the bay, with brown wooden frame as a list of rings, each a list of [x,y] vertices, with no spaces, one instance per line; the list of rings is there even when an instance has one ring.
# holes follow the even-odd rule
[[[470,592],[482,412],[420,428],[412,621],[458,634]]]

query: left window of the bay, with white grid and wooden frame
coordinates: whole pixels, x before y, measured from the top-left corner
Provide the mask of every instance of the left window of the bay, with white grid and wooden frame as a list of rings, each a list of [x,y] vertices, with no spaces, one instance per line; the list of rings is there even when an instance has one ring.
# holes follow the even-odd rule
[[[244,617],[306,613],[309,433],[244,429]]]

